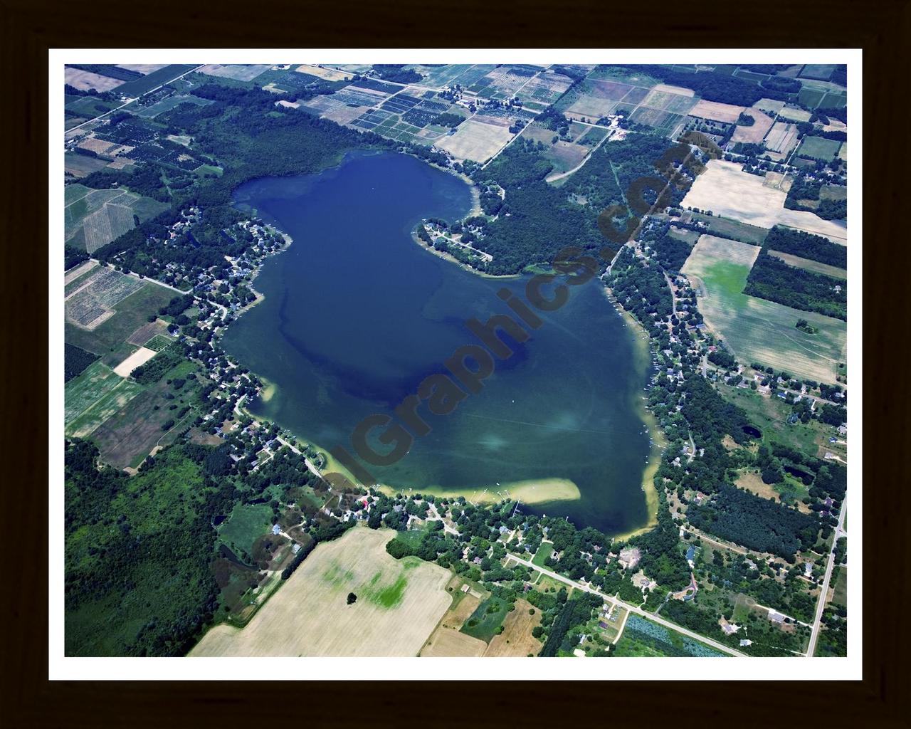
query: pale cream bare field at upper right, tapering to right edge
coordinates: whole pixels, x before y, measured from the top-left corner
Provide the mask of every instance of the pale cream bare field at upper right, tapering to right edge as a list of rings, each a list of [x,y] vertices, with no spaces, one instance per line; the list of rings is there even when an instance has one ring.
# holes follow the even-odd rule
[[[780,223],[824,235],[836,243],[847,242],[844,221],[824,221],[814,212],[788,210],[784,207],[787,193],[765,187],[763,181],[762,177],[744,172],[736,162],[711,159],[681,204],[760,228]]]

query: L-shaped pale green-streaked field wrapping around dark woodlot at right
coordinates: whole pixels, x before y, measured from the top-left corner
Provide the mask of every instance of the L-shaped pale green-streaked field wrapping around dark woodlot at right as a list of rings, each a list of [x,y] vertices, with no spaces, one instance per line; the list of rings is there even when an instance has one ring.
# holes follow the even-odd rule
[[[742,293],[759,248],[701,236],[682,272],[701,294],[699,310],[709,328],[743,362],[758,362],[817,382],[834,383],[844,362],[845,323]],[[817,334],[794,327],[806,319]]]

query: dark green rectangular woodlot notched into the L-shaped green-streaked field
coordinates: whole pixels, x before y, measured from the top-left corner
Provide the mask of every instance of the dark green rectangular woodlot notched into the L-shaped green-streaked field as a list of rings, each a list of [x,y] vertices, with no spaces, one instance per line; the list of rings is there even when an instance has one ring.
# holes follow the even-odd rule
[[[788,265],[764,248],[752,264],[743,293],[804,312],[847,319],[847,282]]]

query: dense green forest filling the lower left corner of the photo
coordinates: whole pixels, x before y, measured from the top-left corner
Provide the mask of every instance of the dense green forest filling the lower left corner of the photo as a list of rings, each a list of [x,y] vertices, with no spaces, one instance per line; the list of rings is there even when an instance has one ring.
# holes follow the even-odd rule
[[[209,570],[218,488],[184,447],[136,477],[99,469],[97,455],[67,442],[67,654],[182,655],[218,601]]]

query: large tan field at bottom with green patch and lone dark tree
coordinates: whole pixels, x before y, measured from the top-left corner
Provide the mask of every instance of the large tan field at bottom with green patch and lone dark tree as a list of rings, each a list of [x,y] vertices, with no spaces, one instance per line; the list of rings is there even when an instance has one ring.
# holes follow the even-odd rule
[[[394,560],[385,550],[394,536],[357,527],[319,545],[245,628],[218,625],[189,655],[415,656],[449,608],[451,573]]]

